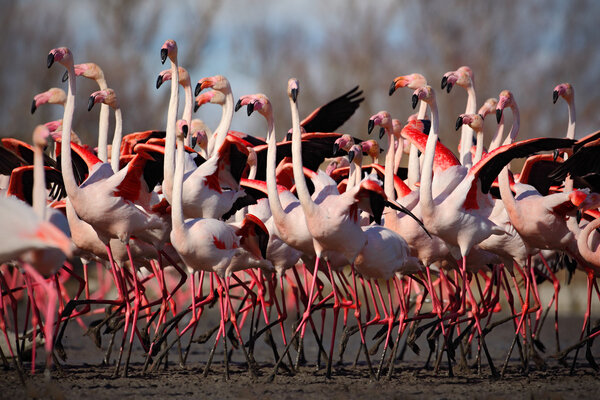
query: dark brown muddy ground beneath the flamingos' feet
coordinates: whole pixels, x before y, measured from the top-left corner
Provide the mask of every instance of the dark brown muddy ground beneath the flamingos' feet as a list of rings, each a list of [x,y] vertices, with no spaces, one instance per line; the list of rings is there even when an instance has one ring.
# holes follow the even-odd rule
[[[92,318],[93,319],[93,318]],[[351,318],[350,318],[351,319]],[[207,315],[204,326],[215,323],[216,316]],[[86,322],[89,319],[86,318]],[[578,337],[582,320],[580,318],[562,317],[560,321],[561,345],[563,348],[572,344]],[[326,324],[327,325],[327,324]],[[289,326],[287,327],[290,328]],[[206,328],[204,328],[206,329]],[[372,338],[378,328],[369,328],[367,338]],[[496,328],[488,336],[488,346],[494,362],[501,367],[511,341],[511,324]],[[257,342],[255,357],[260,369],[257,378],[251,378],[247,372],[241,352],[232,356],[230,363],[230,380],[224,379],[223,349],[219,345],[210,373],[205,378],[202,371],[212,347],[211,338],[204,344],[193,343],[188,362],[184,368],[179,366],[176,346],[170,352],[170,360],[165,370],[144,374],[143,357],[140,348],[133,351],[133,364],[128,378],[113,378],[114,367],[102,365],[104,349],[107,347],[109,335],[103,335],[103,349],[98,349],[92,340],[82,335],[83,330],[77,324],[70,324],[65,337],[66,362],[58,370],[52,372],[52,380],[47,382],[43,373],[35,376],[27,374],[26,386],[22,386],[14,370],[0,370],[0,399],[33,398],[65,398],[65,399],[147,399],[147,398],[218,398],[218,399],[255,399],[255,398],[329,398],[329,399],[364,399],[367,396],[387,399],[413,398],[469,398],[469,399],[531,399],[531,398],[599,398],[600,374],[595,372],[580,352],[577,368],[570,375],[570,368],[561,365],[552,354],[556,352],[553,320],[548,319],[542,331],[541,340],[546,346],[545,353],[539,352],[545,366],[532,363],[527,375],[519,370],[519,359],[515,351],[509,368],[503,379],[493,379],[487,362],[482,364],[482,374],[475,368],[455,368],[455,377],[448,377],[447,363],[441,364],[436,374],[432,368],[424,368],[428,354],[425,339],[421,337],[417,344],[421,351],[416,355],[410,349],[404,360],[396,363],[395,373],[391,380],[380,381],[370,379],[364,357],[359,359],[358,366],[352,366],[358,350],[359,339],[350,339],[344,363],[335,365],[333,378],[325,378],[325,369],[315,367],[316,345],[311,334],[307,333],[306,357],[308,364],[295,375],[282,371],[273,383],[267,382],[272,371],[273,355],[265,342]],[[203,333],[203,332],[200,332]],[[200,333],[196,334],[196,337]],[[247,332],[245,332],[247,333]],[[325,331],[325,337],[329,337]],[[274,331],[276,337],[280,334]],[[339,339],[338,334],[338,339]],[[187,343],[188,336],[184,336]],[[368,339],[370,343],[372,340]],[[117,336],[117,343],[119,336]],[[278,341],[280,351],[281,341]],[[329,347],[328,340],[326,347]],[[337,347],[337,346],[336,346]],[[600,356],[600,346],[592,347],[593,353]],[[43,351],[41,351],[43,353]],[[380,354],[380,353],[379,353]],[[373,356],[377,364],[379,354]],[[116,351],[111,362],[114,363]],[[337,361],[337,355],[335,357]],[[568,358],[568,361],[572,357]],[[470,361],[473,363],[473,360]],[[39,360],[40,367],[42,361]],[[28,364],[26,364],[27,366]],[[569,363],[570,365],[570,363]]]

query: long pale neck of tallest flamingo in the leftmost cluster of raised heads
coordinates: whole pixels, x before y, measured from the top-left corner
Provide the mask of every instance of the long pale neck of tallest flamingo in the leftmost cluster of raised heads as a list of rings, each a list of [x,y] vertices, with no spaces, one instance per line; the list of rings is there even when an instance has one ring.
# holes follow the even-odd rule
[[[79,192],[79,187],[75,181],[75,175],[73,174],[73,165],[71,163],[71,128],[73,125],[73,112],[75,110],[75,69],[73,62],[66,65],[67,73],[69,75],[69,90],[67,92],[67,102],[65,104],[65,111],[63,115],[63,126],[62,126],[62,138],[61,138],[61,161],[60,166],[62,169],[63,181],[68,197],[74,199]]]

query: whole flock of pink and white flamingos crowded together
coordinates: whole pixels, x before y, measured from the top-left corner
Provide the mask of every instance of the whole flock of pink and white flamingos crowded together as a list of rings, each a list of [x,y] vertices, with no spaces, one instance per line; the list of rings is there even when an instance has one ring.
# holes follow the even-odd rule
[[[263,336],[273,351],[267,360],[273,379],[307,362],[307,328],[327,377],[334,353],[341,361],[348,340],[360,340],[356,359],[373,378],[391,377],[406,346],[418,351],[421,335],[435,368],[447,366],[450,375],[467,355],[479,371],[487,360],[491,374],[503,375],[513,351],[526,373],[539,362],[539,334],[550,310],[558,357],[574,352],[573,368],[585,348],[587,362],[598,368],[590,347],[600,330],[591,326],[590,309],[594,292],[600,298],[600,132],[575,139],[570,84],[553,92],[554,102],[563,98],[569,108],[566,134],[519,141],[510,91],[478,109],[471,69],[447,72],[442,90],[458,85],[468,93],[456,121],[456,156],[439,132],[434,89],[420,74],[399,76],[389,95],[409,88],[418,114],[404,125],[387,111],[364,121],[368,133],[387,140],[383,154],[376,140],[334,132],[364,100],[358,88],[300,121],[300,84],[290,79],[292,128],[278,138],[265,95],[235,102],[229,82],[217,75],[198,81],[194,99],[173,40],[160,58],[171,63],[156,82],[159,88],[171,81],[165,131],[122,135],[117,92],[100,67],[75,64],[61,47],[50,51],[47,66],[66,68],[68,93],[40,93],[31,111],[60,104],[62,120],[37,126],[32,145],[2,139],[0,356],[21,379],[27,360],[35,371],[42,343],[46,367],[60,365],[69,321],[98,346],[102,334],[112,335],[107,363],[117,338],[115,375],[127,375],[134,345],[143,349],[144,371],[151,371],[167,362],[174,345],[185,362],[200,340],[212,344],[205,374],[221,343],[227,377],[233,353],[243,355],[256,377],[261,366],[253,350]],[[100,87],[88,104],[89,111],[101,103],[97,148],[72,131],[79,76]],[[213,133],[192,119],[192,108],[205,103],[222,107]],[[242,108],[265,118],[266,141],[229,129]],[[498,128],[486,149],[489,114]],[[405,154],[407,168],[400,167]],[[520,172],[509,168],[515,158],[526,158]],[[326,170],[319,169],[323,163]],[[83,269],[73,266],[75,259]],[[579,338],[560,352],[556,273],[562,268],[586,274],[587,309]],[[550,284],[554,294],[546,304],[539,287]],[[220,322],[212,327],[202,314],[216,305]],[[99,316],[84,322],[91,314]],[[486,336],[500,324],[512,325],[514,337],[497,368]],[[206,333],[192,342],[197,330]]]

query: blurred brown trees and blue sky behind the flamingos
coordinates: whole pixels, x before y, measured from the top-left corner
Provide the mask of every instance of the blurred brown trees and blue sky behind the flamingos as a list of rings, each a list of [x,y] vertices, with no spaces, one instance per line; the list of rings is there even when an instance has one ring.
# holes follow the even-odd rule
[[[388,88],[398,75],[419,72],[437,90],[441,138],[456,149],[454,124],[464,112],[466,92],[442,93],[442,75],[461,65],[475,74],[478,107],[502,89],[513,91],[521,110],[521,136],[563,136],[567,106],[552,104],[561,82],[575,88],[577,137],[600,128],[600,2],[593,0],[353,1],[265,0],[33,1],[0,0],[0,135],[31,141],[35,125],[62,117],[46,106],[33,116],[33,96],[50,87],[66,90],[64,68],[46,68],[54,47],[71,48],[76,63],[95,62],[117,92],[124,133],[163,130],[169,85],[155,88],[160,47],[175,39],[180,65],[192,84],[222,74],[234,98],[263,92],[273,102],[278,139],[290,126],[288,78],[301,83],[300,112],[360,85],[365,101],[340,129],[365,138],[370,115],[388,110],[405,121],[413,112],[411,93]],[[97,143],[100,107],[86,111],[98,90],[77,82],[73,129],[85,143]],[[181,93],[181,91],[180,91]],[[180,111],[183,108],[181,94]],[[220,107],[203,106],[195,115],[213,129]],[[507,124],[512,116],[507,113]],[[111,125],[113,124],[111,117]],[[486,145],[495,131],[486,122]],[[232,129],[265,136],[263,118],[236,114]],[[111,130],[112,132],[112,127]],[[385,145],[384,141],[381,141]]]

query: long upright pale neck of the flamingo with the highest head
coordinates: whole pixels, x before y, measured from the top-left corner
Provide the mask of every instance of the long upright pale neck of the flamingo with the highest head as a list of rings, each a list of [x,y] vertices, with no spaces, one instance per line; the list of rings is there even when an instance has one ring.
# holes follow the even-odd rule
[[[163,166],[163,190],[168,193],[173,187],[173,170],[175,169],[175,129],[179,109],[179,66],[177,57],[171,60],[171,97],[167,112],[167,129],[165,133],[165,161]]]

